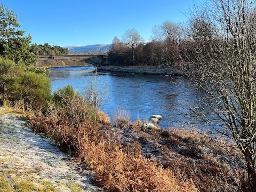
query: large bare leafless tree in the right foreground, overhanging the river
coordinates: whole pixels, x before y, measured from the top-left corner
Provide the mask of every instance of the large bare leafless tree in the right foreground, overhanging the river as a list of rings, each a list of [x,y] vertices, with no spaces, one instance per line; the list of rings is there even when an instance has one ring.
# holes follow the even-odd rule
[[[194,73],[204,95],[194,114],[235,140],[256,178],[256,10],[254,0],[213,0],[191,13]],[[209,116],[211,113],[211,116]]]

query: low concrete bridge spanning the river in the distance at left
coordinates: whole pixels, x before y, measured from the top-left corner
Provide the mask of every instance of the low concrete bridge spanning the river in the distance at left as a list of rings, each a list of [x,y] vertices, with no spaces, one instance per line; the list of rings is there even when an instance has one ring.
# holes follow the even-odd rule
[[[89,63],[94,66],[109,65],[108,55],[98,54],[76,54],[76,55],[41,55],[37,60],[72,60]]]

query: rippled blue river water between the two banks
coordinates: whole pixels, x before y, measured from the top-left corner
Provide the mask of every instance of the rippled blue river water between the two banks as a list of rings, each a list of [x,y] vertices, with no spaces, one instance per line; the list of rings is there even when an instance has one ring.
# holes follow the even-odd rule
[[[52,91],[72,85],[85,95],[93,74],[93,66],[52,68]],[[98,72],[97,81],[100,90],[108,89],[108,100],[100,108],[110,118],[117,108],[129,111],[131,122],[157,114],[163,116],[159,126],[164,128],[188,126],[190,119],[182,112],[188,110],[188,102],[193,105],[198,99],[192,83],[182,76]]]

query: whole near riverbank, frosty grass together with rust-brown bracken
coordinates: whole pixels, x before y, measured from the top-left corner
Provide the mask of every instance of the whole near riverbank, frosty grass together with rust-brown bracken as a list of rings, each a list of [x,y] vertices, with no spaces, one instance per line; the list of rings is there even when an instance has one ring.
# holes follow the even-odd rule
[[[76,135],[64,121],[41,116],[29,123],[41,137],[24,120],[0,108],[0,191],[101,191],[93,181],[107,191],[231,192],[241,191],[239,179],[246,178],[234,143],[197,130],[143,132],[137,121],[117,127],[85,124]],[[68,161],[47,135],[56,144],[67,142],[69,150],[62,149],[93,172]]]

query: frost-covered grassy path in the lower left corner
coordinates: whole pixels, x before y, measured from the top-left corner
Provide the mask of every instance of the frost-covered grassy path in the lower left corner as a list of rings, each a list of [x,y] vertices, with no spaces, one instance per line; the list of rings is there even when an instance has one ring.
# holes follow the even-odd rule
[[[0,191],[100,191],[50,142],[0,107]]]

